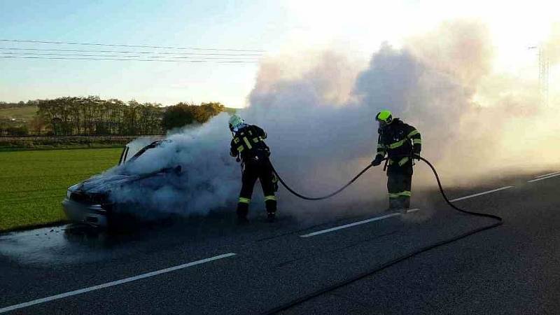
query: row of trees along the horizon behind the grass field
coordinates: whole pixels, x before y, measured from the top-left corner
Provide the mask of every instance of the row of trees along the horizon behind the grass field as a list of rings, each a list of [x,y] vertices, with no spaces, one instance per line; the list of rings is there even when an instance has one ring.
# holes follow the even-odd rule
[[[27,103],[0,102],[0,109],[36,106],[36,115],[25,123],[0,123],[0,135],[138,135],[163,134],[193,123],[205,123],[228,109],[219,102],[164,107],[134,99],[101,99],[97,96],[37,99]]]

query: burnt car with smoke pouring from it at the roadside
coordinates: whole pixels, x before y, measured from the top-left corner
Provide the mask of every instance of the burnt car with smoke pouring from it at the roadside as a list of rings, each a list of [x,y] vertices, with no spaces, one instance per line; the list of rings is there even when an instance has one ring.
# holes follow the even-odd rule
[[[135,183],[141,183],[150,191],[158,191],[162,186],[181,181],[181,165],[145,173],[131,172],[135,163],[141,162],[148,153],[170,142],[172,141],[152,141],[140,150],[137,150],[138,144],[127,144],[120,155],[118,167],[68,188],[62,201],[66,217],[74,223],[86,223],[100,228],[145,218],[143,214],[149,211],[146,204],[115,200],[112,195],[115,190],[122,191]]]

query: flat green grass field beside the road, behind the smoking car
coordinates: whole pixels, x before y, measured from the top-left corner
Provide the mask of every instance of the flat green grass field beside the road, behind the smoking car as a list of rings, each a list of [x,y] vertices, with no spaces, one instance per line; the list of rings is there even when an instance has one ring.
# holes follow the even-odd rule
[[[64,220],[66,188],[116,165],[121,151],[0,152],[0,231]]]

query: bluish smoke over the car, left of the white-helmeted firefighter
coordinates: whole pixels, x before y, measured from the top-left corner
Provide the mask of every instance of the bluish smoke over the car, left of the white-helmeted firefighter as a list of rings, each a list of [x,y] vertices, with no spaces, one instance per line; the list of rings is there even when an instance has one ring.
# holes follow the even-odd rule
[[[228,114],[221,113],[200,127],[166,137],[163,144],[134,162],[114,167],[86,183],[92,191],[111,190],[111,201],[145,216],[158,212],[188,215],[235,204],[239,167],[229,156]],[[181,166],[181,172],[158,173]],[[125,174],[125,176],[123,176]],[[123,183],[123,180],[137,178]],[[109,185],[107,184],[109,183]]]

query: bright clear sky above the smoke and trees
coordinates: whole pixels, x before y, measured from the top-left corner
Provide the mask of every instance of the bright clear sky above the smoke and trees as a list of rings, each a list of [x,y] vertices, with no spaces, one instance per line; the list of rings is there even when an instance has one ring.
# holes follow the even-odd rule
[[[266,50],[265,55],[334,48],[367,59],[381,41],[398,45],[442,20],[479,18],[488,23],[498,48],[496,66],[514,71],[534,66],[534,52],[526,47],[544,39],[560,19],[556,1],[520,2],[0,0],[0,38]],[[0,48],[122,50],[8,42]],[[258,63],[0,58],[0,100],[95,94],[241,107],[257,71]]]

